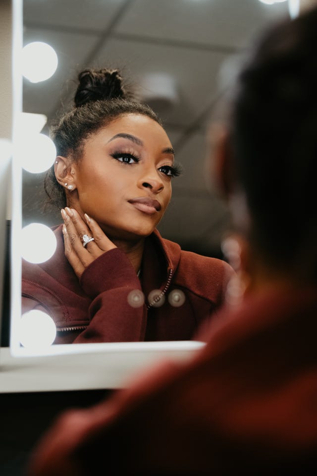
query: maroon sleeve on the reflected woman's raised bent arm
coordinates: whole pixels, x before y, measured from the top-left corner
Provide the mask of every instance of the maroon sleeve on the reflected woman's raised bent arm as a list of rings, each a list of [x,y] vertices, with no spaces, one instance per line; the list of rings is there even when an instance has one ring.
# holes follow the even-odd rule
[[[80,284],[92,298],[90,324],[74,343],[143,341],[147,308],[129,259],[118,248],[91,263]]]

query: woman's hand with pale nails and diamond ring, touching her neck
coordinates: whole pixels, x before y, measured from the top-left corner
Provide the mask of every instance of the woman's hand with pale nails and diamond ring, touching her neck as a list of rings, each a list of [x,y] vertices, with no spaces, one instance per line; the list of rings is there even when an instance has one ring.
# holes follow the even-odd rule
[[[65,256],[79,279],[90,263],[116,246],[106,237],[98,223],[86,213],[87,223],[73,208],[62,209],[61,216],[64,220]],[[94,241],[87,243],[86,247],[83,246],[82,237],[84,235],[94,238]]]

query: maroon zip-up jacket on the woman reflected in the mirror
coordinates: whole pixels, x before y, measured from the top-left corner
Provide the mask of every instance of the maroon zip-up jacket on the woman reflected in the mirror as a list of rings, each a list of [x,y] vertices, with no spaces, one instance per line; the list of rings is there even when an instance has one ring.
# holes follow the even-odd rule
[[[223,303],[233,272],[225,261],[183,251],[155,231],[146,238],[140,280],[126,255],[114,248],[91,263],[79,282],[64,256],[61,226],[55,235],[50,260],[23,261],[22,267],[22,297],[53,317],[55,344],[190,340]],[[159,306],[148,300],[153,290],[160,290]],[[173,290],[184,293],[180,307],[170,304]],[[145,302],[132,307],[128,296],[140,291]]]

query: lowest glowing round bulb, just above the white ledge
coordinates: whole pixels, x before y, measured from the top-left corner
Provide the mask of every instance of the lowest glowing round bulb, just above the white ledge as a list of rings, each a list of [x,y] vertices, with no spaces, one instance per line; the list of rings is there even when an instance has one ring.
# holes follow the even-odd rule
[[[53,344],[56,326],[53,319],[43,311],[33,309],[22,315],[18,327],[19,341],[28,349],[43,349]]]

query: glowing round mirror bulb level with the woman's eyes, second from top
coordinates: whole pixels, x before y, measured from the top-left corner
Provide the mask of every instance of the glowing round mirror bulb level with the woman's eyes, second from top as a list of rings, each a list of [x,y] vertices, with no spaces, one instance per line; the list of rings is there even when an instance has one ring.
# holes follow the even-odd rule
[[[45,172],[56,158],[53,140],[45,134],[23,134],[19,137],[16,153],[23,169],[31,174]]]

